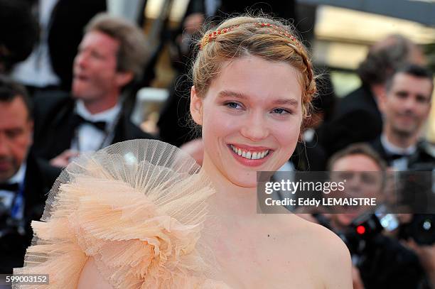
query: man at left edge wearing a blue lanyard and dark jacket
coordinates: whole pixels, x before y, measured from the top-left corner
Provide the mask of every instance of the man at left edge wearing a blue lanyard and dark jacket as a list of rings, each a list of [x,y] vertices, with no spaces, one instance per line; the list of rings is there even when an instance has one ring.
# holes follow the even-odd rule
[[[33,119],[25,89],[0,77],[0,273],[23,266],[31,220],[40,219],[59,170],[29,152]]]

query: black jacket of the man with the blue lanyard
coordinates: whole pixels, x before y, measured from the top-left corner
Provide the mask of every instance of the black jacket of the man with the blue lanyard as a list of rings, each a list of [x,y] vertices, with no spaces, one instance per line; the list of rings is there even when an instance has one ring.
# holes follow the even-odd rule
[[[33,231],[31,221],[42,217],[47,193],[60,174],[45,160],[37,159],[33,153],[27,157],[26,177],[24,179],[23,234],[9,225],[11,233],[0,238],[0,273],[12,273],[13,268],[22,267],[24,254],[31,244]],[[4,229],[5,224],[1,224]]]

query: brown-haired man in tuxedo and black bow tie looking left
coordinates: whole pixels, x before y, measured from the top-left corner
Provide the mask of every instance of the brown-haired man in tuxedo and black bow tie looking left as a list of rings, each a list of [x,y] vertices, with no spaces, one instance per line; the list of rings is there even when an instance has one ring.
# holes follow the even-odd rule
[[[58,167],[85,151],[152,138],[131,123],[123,95],[148,61],[144,34],[107,14],[92,18],[85,31],[74,60],[73,97],[36,99],[35,151]]]

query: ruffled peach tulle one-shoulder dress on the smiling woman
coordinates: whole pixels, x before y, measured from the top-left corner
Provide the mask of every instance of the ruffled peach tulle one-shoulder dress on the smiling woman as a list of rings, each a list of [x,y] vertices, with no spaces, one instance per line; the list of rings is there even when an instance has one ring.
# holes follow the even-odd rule
[[[210,180],[161,141],[116,143],[82,156],[55,182],[15,274],[76,288],[87,258],[113,288],[228,288],[201,242]],[[15,288],[39,288],[15,285]]]

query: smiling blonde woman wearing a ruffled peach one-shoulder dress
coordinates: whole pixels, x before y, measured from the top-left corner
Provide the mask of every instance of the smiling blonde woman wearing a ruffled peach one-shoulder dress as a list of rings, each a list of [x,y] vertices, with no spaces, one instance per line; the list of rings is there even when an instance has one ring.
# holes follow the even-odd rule
[[[199,47],[190,112],[203,167],[158,141],[78,160],[16,272],[51,273],[62,288],[352,288],[338,236],[256,214],[257,171],[289,159],[316,92],[305,48],[288,26],[251,17],[224,21]]]

